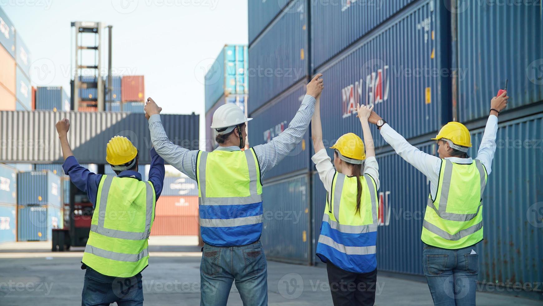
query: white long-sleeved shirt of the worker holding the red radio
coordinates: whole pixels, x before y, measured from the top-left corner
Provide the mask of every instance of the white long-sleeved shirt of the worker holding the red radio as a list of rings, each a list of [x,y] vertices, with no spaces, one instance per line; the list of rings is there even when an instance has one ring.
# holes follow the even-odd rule
[[[481,146],[477,152],[477,157],[487,169],[487,174],[491,172],[492,160],[496,152],[496,133],[498,131],[498,117],[490,115],[487,126],[484,129]],[[441,159],[437,156],[424,153],[418,148],[412,146],[402,135],[398,134],[387,123],[381,127],[381,136],[394,148],[394,151],[400,155],[407,163],[413,165],[430,180],[430,192],[432,198],[435,198],[437,186],[439,183],[439,172],[441,168]],[[447,157],[456,164],[471,164],[472,158]]]

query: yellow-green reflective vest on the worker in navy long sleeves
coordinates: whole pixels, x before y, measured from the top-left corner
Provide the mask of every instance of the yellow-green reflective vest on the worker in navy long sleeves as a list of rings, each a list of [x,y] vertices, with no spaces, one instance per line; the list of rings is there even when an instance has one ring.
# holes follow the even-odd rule
[[[101,274],[128,278],[148,265],[147,239],[155,218],[153,184],[102,176],[83,263]]]

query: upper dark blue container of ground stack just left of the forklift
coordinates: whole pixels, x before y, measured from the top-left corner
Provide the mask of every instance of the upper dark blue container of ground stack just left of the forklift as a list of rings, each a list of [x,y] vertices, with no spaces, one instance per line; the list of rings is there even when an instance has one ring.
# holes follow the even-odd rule
[[[50,171],[20,172],[17,174],[19,205],[61,204],[60,177]]]

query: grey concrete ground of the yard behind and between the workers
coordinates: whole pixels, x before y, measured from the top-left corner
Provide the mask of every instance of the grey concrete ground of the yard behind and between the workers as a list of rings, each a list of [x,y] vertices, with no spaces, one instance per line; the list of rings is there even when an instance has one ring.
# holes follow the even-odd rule
[[[142,272],[144,304],[198,305],[200,249],[194,237],[151,236],[149,266]],[[83,248],[49,251],[50,242],[0,245],[0,305],[77,305],[81,303]],[[432,305],[423,282],[377,277],[376,305]],[[332,305],[326,270],[268,262],[270,305]],[[232,286],[228,305],[241,305]],[[541,301],[478,292],[478,305],[541,305]]]

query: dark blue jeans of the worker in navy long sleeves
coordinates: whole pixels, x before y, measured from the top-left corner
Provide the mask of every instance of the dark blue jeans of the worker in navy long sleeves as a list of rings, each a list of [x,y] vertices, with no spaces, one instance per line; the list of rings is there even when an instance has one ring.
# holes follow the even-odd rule
[[[130,278],[111,277],[87,267],[81,305],[109,305],[115,302],[119,306],[143,305],[141,273]]]

